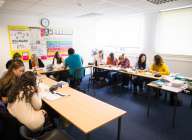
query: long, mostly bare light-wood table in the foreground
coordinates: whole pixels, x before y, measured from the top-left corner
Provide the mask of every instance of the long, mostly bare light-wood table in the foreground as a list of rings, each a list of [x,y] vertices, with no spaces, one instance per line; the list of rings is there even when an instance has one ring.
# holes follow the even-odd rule
[[[49,78],[44,77],[41,80],[49,86],[56,84],[56,81]],[[43,101],[84,132],[86,139],[90,138],[90,133],[95,129],[118,119],[117,140],[120,140],[122,116],[126,111],[70,87],[60,88],[57,91],[69,96],[54,101],[46,99]]]

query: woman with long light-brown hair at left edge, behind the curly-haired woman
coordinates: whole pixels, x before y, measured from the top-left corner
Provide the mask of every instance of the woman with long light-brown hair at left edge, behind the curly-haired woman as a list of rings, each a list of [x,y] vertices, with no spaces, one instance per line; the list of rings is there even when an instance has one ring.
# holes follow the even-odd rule
[[[18,78],[24,73],[25,67],[21,60],[15,60],[8,71],[0,79],[0,100],[7,103],[8,92],[17,83]]]

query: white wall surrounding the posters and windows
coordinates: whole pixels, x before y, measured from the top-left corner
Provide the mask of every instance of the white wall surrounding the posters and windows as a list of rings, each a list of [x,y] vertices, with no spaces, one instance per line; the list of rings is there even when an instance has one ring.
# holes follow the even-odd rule
[[[97,18],[82,18],[82,19],[50,19],[50,26],[64,27],[73,30],[74,41],[73,46],[76,52],[81,54],[84,59],[84,64],[87,64],[90,59],[90,53],[93,48],[100,48],[96,44],[96,23]],[[126,17],[125,17],[126,18]],[[145,14],[145,41],[143,52],[147,54],[149,63],[152,62],[155,55],[155,34],[158,13]],[[5,64],[9,56],[9,43],[7,25],[27,25],[27,26],[40,26],[41,17],[35,16],[9,16],[0,14],[0,75],[5,71]],[[135,63],[137,56],[129,56],[132,64]],[[188,60],[188,59],[187,59]],[[183,73],[187,76],[192,76],[192,61],[169,59],[165,57],[165,61],[170,66],[172,72]]]

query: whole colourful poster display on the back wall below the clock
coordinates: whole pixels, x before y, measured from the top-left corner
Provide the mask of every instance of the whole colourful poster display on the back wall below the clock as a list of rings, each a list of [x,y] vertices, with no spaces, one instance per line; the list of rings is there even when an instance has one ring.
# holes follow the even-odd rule
[[[27,61],[31,54],[36,54],[41,59],[54,57],[56,51],[61,56],[68,55],[68,49],[72,47],[73,34],[61,29],[51,29],[47,34],[47,29],[27,26],[8,26],[10,55],[18,52],[22,59]]]

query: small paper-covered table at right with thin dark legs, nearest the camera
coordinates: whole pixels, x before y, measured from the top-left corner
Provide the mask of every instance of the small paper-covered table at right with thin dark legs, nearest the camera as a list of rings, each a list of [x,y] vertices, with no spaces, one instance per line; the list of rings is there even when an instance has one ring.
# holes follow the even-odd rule
[[[167,95],[167,92],[173,95],[173,115],[172,115],[172,127],[175,127],[175,118],[176,118],[176,110],[177,110],[177,103],[175,102],[177,100],[177,95],[180,94],[182,91],[184,91],[187,87],[184,85],[182,87],[172,87],[168,84],[159,86],[155,84],[154,82],[150,82],[147,84],[149,88],[155,88],[158,90],[166,91],[165,94]],[[147,117],[149,117],[150,114],[150,95],[148,93],[148,107],[147,107]]]

